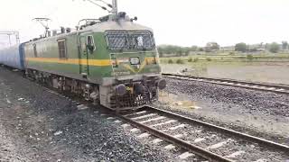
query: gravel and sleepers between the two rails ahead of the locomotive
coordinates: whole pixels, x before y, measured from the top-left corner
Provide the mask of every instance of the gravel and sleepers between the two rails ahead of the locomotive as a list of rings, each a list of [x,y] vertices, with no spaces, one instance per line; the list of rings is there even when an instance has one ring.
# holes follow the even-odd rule
[[[152,114],[153,112],[147,113]],[[139,116],[142,117],[146,115],[141,114]],[[154,116],[154,118],[159,116],[161,116],[161,114]],[[149,119],[151,119],[151,117],[137,119],[136,121],[141,122]],[[166,119],[166,121],[170,120],[173,120],[173,118],[168,117]],[[145,123],[145,125],[152,124],[154,123]],[[181,125],[182,127],[180,127]],[[243,151],[244,153],[241,155],[241,157],[233,159],[237,161],[256,161],[262,158],[265,158],[268,161],[284,161],[289,159],[289,157],[286,156],[284,152],[276,151],[274,148],[268,149],[260,147],[256,143],[247,142],[244,139],[239,139],[216,130],[210,130],[209,128],[202,127],[198,124],[191,124],[185,121],[176,121],[172,124],[165,124],[162,126],[154,127],[154,129],[162,130],[172,136],[182,135],[178,138],[184,141],[189,141],[192,144],[199,146],[200,148],[210,149],[211,152],[217,153],[223,157],[229,156],[237,151]]]

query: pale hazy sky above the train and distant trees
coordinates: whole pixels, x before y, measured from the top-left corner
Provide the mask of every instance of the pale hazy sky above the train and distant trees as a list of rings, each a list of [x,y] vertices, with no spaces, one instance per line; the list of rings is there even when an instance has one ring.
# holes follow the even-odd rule
[[[43,33],[35,17],[51,18],[50,28],[60,29],[107,14],[84,0],[2,1],[0,31],[20,31],[22,42]],[[154,29],[157,44],[180,46],[289,41],[288,7],[288,0],[118,0],[119,11]],[[0,46],[7,44],[8,37],[1,35]]]

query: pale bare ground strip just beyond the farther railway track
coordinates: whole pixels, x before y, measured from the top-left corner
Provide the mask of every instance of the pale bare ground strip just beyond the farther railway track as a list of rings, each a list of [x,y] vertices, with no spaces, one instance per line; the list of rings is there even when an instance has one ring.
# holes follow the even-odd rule
[[[178,73],[187,68],[187,75],[232,78],[256,82],[289,85],[289,63],[259,62],[215,62],[191,63],[185,65],[163,64],[163,72]]]

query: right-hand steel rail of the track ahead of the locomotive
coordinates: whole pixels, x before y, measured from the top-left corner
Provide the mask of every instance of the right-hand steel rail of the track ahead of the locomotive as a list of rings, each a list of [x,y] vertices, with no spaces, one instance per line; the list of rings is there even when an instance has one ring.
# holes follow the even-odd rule
[[[284,151],[285,153],[289,154],[289,146],[286,146],[286,145],[283,145],[280,143],[276,143],[276,142],[271,141],[271,140],[257,138],[255,136],[251,136],[251,135],[248,135],[246,133],[238,132],[236,130],[229,130],[229,129],[226,129],[223,127],[219,127],[217,125],[210,124],[208,122],[191,119],[191,118],[182,116],[180,114],[176,114],[174,112],[164,111],[164,110],[152,107],[152,106],[146,106],[144,109],[153,110],[154,112],[160,112],[160,113],[172,116],[173,118],[178,118],[182,121],[200,124],[202,126],[209,127],[210,129],[214,129],[214,130],[221,131],[221,132],[224,132],[224,133],[227,133],[230,135],[234,135],[234,136],[237,136],[237,137],[242,138],[242,139],[247,139],[251,142],[256,142],[256,143],[261,144],[263,146],[269,146],[271,148],[276,148],[276,149],[279,149],[279,150]]]

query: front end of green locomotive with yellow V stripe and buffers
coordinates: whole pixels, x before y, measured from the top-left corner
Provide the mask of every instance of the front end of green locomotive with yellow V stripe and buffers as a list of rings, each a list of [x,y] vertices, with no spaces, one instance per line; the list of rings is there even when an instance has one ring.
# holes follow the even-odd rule
[[[107,29],[104,35],[111,77],[103,78],[100,103],[123,110],[156,101],[158,90],[166,83],[161,76],[154,32],[127,17],[112,23],[117,26]]]

